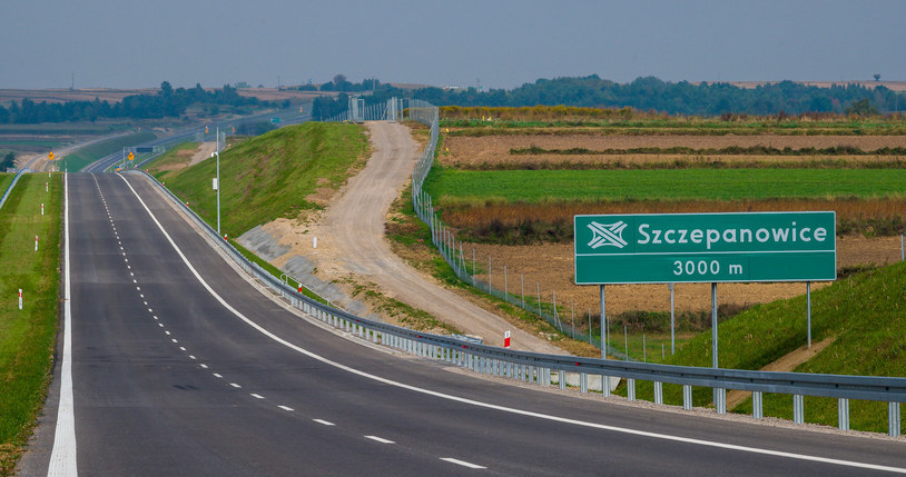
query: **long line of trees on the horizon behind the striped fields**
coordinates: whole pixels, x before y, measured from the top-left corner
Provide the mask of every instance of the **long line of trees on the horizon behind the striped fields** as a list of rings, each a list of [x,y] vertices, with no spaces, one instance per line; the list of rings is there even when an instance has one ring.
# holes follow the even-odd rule
[[[343,79],[345,81],[345,77]],[[698,85],[688,81],[668,82],[654,77],[618,83],[592,74],[581,78],[540,79],[511,90],[422,88],[404,91],[392,88],[390,85],[380,85],[377,80],[373,81],[378,86],[371,95],[374,98],[366,97],[368,103],[385,101],[388,97],[398,96],[423,99],[436,106],[565,105],[611,109],[629,107],[642,111],[712,117],[727,113],[775,116],[807,112],[865,116],[877,112],[898,112],[906,109],[906,97],[884,86],[867,88],[859,85],[835,85],[830,88],[820,88],[781,81],[755,88],[740,88],[722,82]],[[364,83],[365,81],[363,81]],[[347,102],[348,98],[345,97],[335,100],[322,99],[315,103],[313,113],[316,118],[326,118],[346,109]],[[322,113],[323,116],[321,116]]]

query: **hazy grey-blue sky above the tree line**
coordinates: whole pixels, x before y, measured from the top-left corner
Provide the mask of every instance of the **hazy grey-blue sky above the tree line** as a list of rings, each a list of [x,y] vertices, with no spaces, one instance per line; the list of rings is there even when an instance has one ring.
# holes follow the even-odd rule
[[[0,88],[906,80],[906,1],[0,0]]]

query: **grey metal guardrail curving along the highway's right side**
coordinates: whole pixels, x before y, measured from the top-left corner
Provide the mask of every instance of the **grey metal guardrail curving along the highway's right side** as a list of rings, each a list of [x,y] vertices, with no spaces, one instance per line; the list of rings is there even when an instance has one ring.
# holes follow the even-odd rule
[[[432,133],[432,136],[434,135]],[[802,396],[837,398],[838,424],[841,429],[849,428],[850,399],[887,401],[888,434],[890,436],[900,434],[899,409],[900,403],[906,403],[906,378],[698,368],[518,351],[465,342],[451,336],[401,328],[322,305],[246,259],[154,176],[142,170],[128,172],[144,175],[148,178],[207,236],[213,238],[214,242],[226,251],[239,267],[288,300],[292,306],[374,344],[417,356],[441,359],[476,372],[520,379],[541,386],[551,386],[555,380],[561,389],[567,387],[567,374],[575,374],[579,376],[582,392],[588,392],[590,376],[602,377],[602,384],[608,382],[609,377],[620,377],[627,379],[630,400],[636,399],[637,379],[652,381],[654,382],[654,403],[659,405],[663,404],[663,382],[681,385],[682,403],[686,409],[692,408],[692,386],[712,388],[717,410],[721,414],[726,413],[727,389],[748,390],[752,391],[754,417],[756,418],[764,417],[761,409],[764,392],[789,394],[794,396],[794,421],[797,424],[804,421]],[[610,387],[602,386],[602,392],[605,397],[610,396]]]

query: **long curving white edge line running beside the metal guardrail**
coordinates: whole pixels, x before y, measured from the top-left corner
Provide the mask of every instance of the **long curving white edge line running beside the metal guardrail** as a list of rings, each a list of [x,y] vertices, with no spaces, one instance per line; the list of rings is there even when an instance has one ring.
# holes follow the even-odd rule
[[[833,458],[828,458],[828,457],[818,457],[818,456],[809,456],[809,455],[805,455],[805,454],[786,453],[786,451],[782,451],[782,450],[761,449],[761,448],[758,448],[758,447],[739,446],[739,445],[735,445],[735,444],[717,443],[717,441],[712,441],[712,440],[696,439],[696,438],[690,438],[690,437],[671,436],[671,435],[668,435],[668,434],[651,433],[651,431],[646,431],[646,430],[638,430],[638,429],[630,429],[630,428],[624,428],[624,427],[609,426],[609,425],[604,425],[604,424],[589,423],[589,421],[579,420],[579,419],[553,416],[553,415],[535,413],[535,411],[530,411],[530,410],[524,410],[524,409],[516,409],[516,408],[500,406],[500,405],[495,405],[495,404],[483,403],[483,401],[479,401],[479,400],[474,400],[474,399],[463,398],[463,397],[459,397],[459,396],[447,395],[447,394],[443,394],[443,392],[439,392],[439,391],[433,391],[431,389],[420,388],[417,386],[412,386],[412,385],[407,385],[407,384],[404,384],[404,382],[397,382],[397,381],[394,381],[394,380],[391,380],[391,379],[387,379],[387,378],[383,378],[383,377],[380,377],[380,376],[376,376],[376,375],[372,375],[372,374],[368,374],[368,372],[365,372],[365,371],[361,371],[358,369],[351,368],[351,367],[348,367],[346,365],[342,365],[339,362],[333,361],[331,359],[327,359],[327,358],[325,358],[323,356],[316,355],[316,354],[314,354],[314,352],[312,352],[312,351],[309,351],[307,349],[298,347],[298,346],[296,346],[296,345],[294,345],[294,344],[292,344],[292,342],[289,342],[289,341],[287,341],[285,339],[274,335],[273,332],[268,331],[267,329],[265,329],[260,325],[258,325],[255,321],[248,319],[245,315],[239,312],[239,310],[233,308],[233,306],[230,306],[228,302],[226,302],[226,300],[224,300],[223,297],[220,297],[216,291],[214,291],[214,289],[208,285],[208,282],[205,281],[204,278],[201,278],[201,276],[198,274],[198,271],[195,269],[195,267],[191,266],[189,260],[183,254],[183,250],[180,250],[179,247],[176,245],[176,242],[173,241],[173,238],[170,238],[170,235],[167,233],[167,231],[164,229],[164,226],[160,225],[160,222],[157,220],[157,217],[155,217],[155,215],[151,212],[151,210],[148,208],[148,206],[145,203],[145,201],[141,200],[141,197],[139,197],[138,192],[136,192],[136,190],[132,188],[132,185],[130,185],[129,181],[126,180],[125,177],[122,177],[122,175],[118,173],[118,176],[126,182],[126,185],[129,187],[129,189],[132,190],[132,193],[136,196],[138,201],[141,202],[141,206],[145,208],[145,210],[151,217],[151,220],[154,220],[154,222],[157,223],[157,227],[164,233],[164,237],[166,237],[167,240],[170,242],[170,246],[173,246],[173,248],[176,250],[177,255],[179,255],[179,257],[183,259],[183,262],[186,264],[186,267],[188,267],[189,271],[191,271],[191,274],[195,276],[195,278],[198,280],[198,282],[201,284],[201,286],[205,289],[207,289],[208,292],[217,301],[219,301],[220,305],[224,306],[224,308],[229,310],[232,314],[236,315],[237,318],[239,318],[243,321],[245,321],[246,324],[248,324],[248,326],[250,326],[250,327],[255,328],[256,330],[258,330],[258,332],[260,332],[262,335],[273,339],[274,341],[276,341],[276,342],[278,342],[278,344],[280,344],[283,346],[286,346],[289,349],[298,351],[298,352],[301,352],[301,354],[303,354],[303,355],[305,355],[305,356],[307,356],[307,357],[309,357],[312,359],[324,362],[325,365],[329,365],[329,366],[333,366],[335,368],[343,369],[344,371],[352,372],[354,375],[362,376],[364,378],[368,378],[368,379],[372,379],[372,380],[375,380],[375,381],[378,381],[378,382],[383,382],[383,384],[386,384],[386,385],[390,385],[390,386],[396,386],[396,387],[402,388],[402,389],[408,389],[411,391],[421,392],[421,394],[424,394],[424,395],[434,396],[434,397],[439,397],[439,398],[442,398],[442,399],[447,399],[447,400],[452,400],[452,401],[456,401],[456,403],[462,403],[462,404],[467,404],[467,405],[472,405],[472,406],[483,407],[483,408],[486,408],[486,409],[494,409],[494,410],[499,410],[499,411],[503,411],[503,413],[515,414],[515,415],[520,415],[520,416],[534,417],[534,418],[538,418],[538,419],[551,420],[551,421],[562,423],[562,424],[570,424],[570,425],[574,425],[574,426],[590,427],[590,428],[602,429],[602,430],[608,430],[608,431],[612,431],[612,433],[621,433],[621,434],[629,434],[629,435],[633,435],[633,436],[648,437],[648,438],[653,438],[653,439],[670,440],[670,441],[674,441],[674,443],[692,444],[692,445],[705,446],[705,447],[713,447],[713,448],[720,448],[720,449],[737,450],[737,451],[750,453],[750,454],[760,454],[760,455],[767,455],[767,456],[774,456],[774,457],[784,457],[784,458],[790,458],[790,459],[797,459],[797,460],[807,460],[807,461],[813,461],[813,463],[831,464],[831,465],[838,465],[838,466],[845,466],[845,467],[856,467],[856,468],[864,468],[864,469],[871,469],[871,470],[884,470],[884,471],[890,471],[890,473],[897,473],[897,474],[906,474],[906,467],[892,467],[892,466],[883,466],[883,465],[877,465],[877,464],[857,463],[857,461],[853,461],[853,460],[833,459]]]

